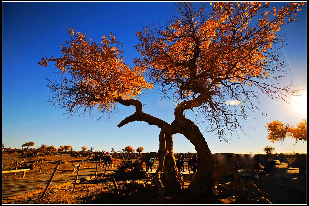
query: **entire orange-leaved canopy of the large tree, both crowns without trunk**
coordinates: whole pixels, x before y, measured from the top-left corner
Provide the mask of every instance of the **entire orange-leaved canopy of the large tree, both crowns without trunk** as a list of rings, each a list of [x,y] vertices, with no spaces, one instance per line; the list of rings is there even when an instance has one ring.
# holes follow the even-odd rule
[[[277,90],[294,93],[289,86],[277,88],[264,83],[281,77],[276,74],[284,67],[274,44],[282,47],[285,38],[276,32],[282,24],[297,20],[292,16],[305,3],[285,5],[270,11],[269,2],[215,2],[208,12],[205,4],[194,8],[192,2],[176,3],[179,16],[163,26],[137,32],[140,44],[135,48],[142,57],[134,59],[133,68],[125,64],[116,35],[102,36],[102,41],[95,43],[68,28],[70,36],[61,45],[62,56],[45,56],[39,64],[55,62],[63,73],[62,82],[50,81],[50,89],[56,93],[52,102],[73,114],[83,107],[84,115],[93,108],[103,115],[111,112],[116,102],[138,99],[143,89],[159,83],[164,94],[172,91],[175,99],[191,101],[184,103],[182,110],[208,103],[209,108],[203,111],[213,112],[210,116],[214,119],[222,115],[234,124],[228,118],[236,115],[234,111],[226,115],[223,98],[249,99],[251,103],[250,98],[258,93],[249,87],[252,85],[274,98]],[[144,73],[151,82],[146,82]]]

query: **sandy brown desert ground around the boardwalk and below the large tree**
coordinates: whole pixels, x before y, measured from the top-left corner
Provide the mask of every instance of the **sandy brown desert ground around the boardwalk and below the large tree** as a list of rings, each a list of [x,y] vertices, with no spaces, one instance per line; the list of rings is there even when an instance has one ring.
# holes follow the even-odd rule
[[[72,162],[72,157],[70,156],[60,156],[45,155],[43,157],[25,158],[25,162],[37,161],[43,158],[48,161],[58,161],[60,159],[65,162]],[[81,158],[74,158],[75,162],[81,160]],[[85,159],[85,158],[84,158]],[[14,170],[15,165],[12,162],[18,160],[19,162],[23,160],[23,156],[20,153],[2,153],[2,170]],[[117,165],[121,162],[120,159],[117,161]],[[83,166],[90,167],[95,165],[96,162],[83,161]],[[103,163],[102,163],[103,164]],[[48,171],[54,168],[54,164],[42,168],[42,172]],[[70,164],[68,164],[70,169]],[[62,170],[65,170],[61,166]],[[286,163],[282,163],[277,167],[280,169],[286,168]],[[34,170],[27,172],[27,177],[36,176],[39,173],[40,164],[36,164]],[[78,183],[76,188],[73,190],[72,183],[66,183],[58,185],[57,188],[51,187],[45,197],[42,199],[41,194],[43,190],[38,190],[35,192],[29,192],[23,195],[8,198],[6,200],[2,199],[3,204],[157,204],[159,191],[154,184],[154,171],[150,173],[149,179],[140,179],[139,181],[144,181],[146,187],[143,188],[128,188],[126,187],[125,181],[135,182],[137,179],[132,177],[117,178],[115,177],[116,168],[109,168],[107,170],[106,177],[99,177],[97,180],[87,179],[86,183]],[[188,172],[186,172],[188,173]],[[243,180],[243,183],[254,182],[260,191],[271,194],[272,196],[267,197],[272,204],[307,204],[307,179],[301,179],[297,168],[290,168],[288,173],[291,176],[290,183],[283,184],[280,177],[275,177],[274,182],[269,177],[265,177],[264,181],[262,177],[248,175],[246,171],[239,170],[239,174]],[[13,177],[14,173],[7,173],[5,176]],[[119,193],[115,193],[114,184],[112,178],[115,177],[116,182],[119,186]],[[2,183],[6,181],[7,178],[2,178]],[[18,180],[17,180],[18,181]],[[81,180],[82,182],[85,179]],[[188,200],[185,195],[186,187],[190,183],[188,179],[184,184],[183,194],[179,196],[169,196],[166,194],[164,199],[164,204],[226,204],[234,203],[241,204],[236,198],[227,194],[215,194],[213,192],[209,193],[205,198],[201,200]],[[221,183],[232,182],[233,177],[231,175],[226,175]],[[150,183],[149,183],[150,182]],[[149,183],[149,184],[147,184]],[[237,201],[236,201],[237,200]]]

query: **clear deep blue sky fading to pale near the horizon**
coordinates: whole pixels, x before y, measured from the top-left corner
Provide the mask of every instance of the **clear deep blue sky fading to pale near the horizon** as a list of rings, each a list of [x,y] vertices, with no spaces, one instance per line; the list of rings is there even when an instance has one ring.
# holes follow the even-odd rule
[[[282,2],[281,2],[282,3]],[[280,4],[280,3],[279,3]],[[110,118],[94,116],[68,118],[61,108],[46,102],[51,93],[43,85],[45,77],[54,79],[57,70],[53,66],[38,65],[44,55],[60,56],[60,45],[67,38],[67,28],[85,32],[87,38],[100,41],[110,32],[125,47],[125,62],[133,65],[138,56],[134,45],[138,44],[135,32],[142,25],[168,19],[175,15],[172,2],[2,2],[2,143],[6,147],[21,148],[28,141],[35,146],[72,145],[75,151],[82,146],[94,147],[95,151],[110,151],[127,145],[134,149],[143,146],[144,152],[157,151],[160,129],[144,122],[133,122],[121,128],[117,124],[134,113],[133,107],[119,106],[119,111]],[[307,119],[307,5],[298,13],[302,20],[286,24],[281,32],[290,36],[281,52],[290,65],[288,78],[281,82],[293,82],[296,88],[305,88],[304,100],[296,100],[303,107],[290,105],[262,97],[258,105],[267,117],[260,113],[249,120],[250,127],[242,122],[246,135],[231,137],[229,142],[220,142],[212,133],[204,137],[212,153],[263,153],[266,145],[276,152],[290,153],[291,149],[307,152],[307,142],[286,139],[281,143],[267,141],[264,127],[272,120],[297,124]],[[173,121],[175,105],[167,99],[160,100],[155,90],[143,96],[143,111]],[[188,111],[186,117],[194,117]],[[202,125],[201,130],[205,130]],[[195,152],[194,146],[182,135],[174,135],[174,152]]]

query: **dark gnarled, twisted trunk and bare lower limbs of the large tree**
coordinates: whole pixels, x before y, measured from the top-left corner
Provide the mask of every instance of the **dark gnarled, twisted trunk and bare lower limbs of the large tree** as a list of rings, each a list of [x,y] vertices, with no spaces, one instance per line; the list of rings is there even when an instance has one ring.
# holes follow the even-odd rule
[[[118,127],[121,127],[125,124],[128,124],[129,122],[133,121],[145,121],[150,125],[156,125],[159,128],[161,128],[160,138],[165,138],[164,141],[161,141],[160,139],[160,149],[163,148],[170,150],[169,154],[173,154],[173,148],[172,148],[172,134],[180,133],[183,134],[194,146],[199,154],[201,164],[199,166],[199,170],[194,174],[193,179],[188,187],[188,193],[189,197],[193,199],[199,199],[205,194],[207,194],[210,186],[211,186],[211,178],[213,174],[213,166],[214,161],[211,156],[210,149],[207,145],[207,142],[205,141],[205,138],[203,137],[200,129],[195,125],[191,120],[188,120],[184,117],[184,110],[191,109],[193,107],[197,107],[204,103],[205,99],[207,99],[209,94],[203,94],[197,97],[193,101],[188,102],[182,102],[180,103],[176,109],[175,109],[175,121],[172,124],[168,124],[167,122],[160,120],[159,118],[153,117],[149,114],[146,114],[142,111],[142,103],[138,100],[124,100],[121,98],[115,99],[115,102],[119,102],[122,105],[125,106],[135,106],[136,112],[125,118],[121,121],[120,124],[118,124]],[[164,133],[162,132],[164,131]],[[162,135],[162,133],[164,135]],[[169,135],[170,136],[169,136]],[[167,173],[168,179],[171,179],[174,177],[174,179],[178,179],[175,172],[176,170],[176,162],[174,155],[166,157],[166,162],[164,162],[164,175]],[[170,168],[167,168],[170,167]],[[179,177],[179,175],[178,175]],[[180,179],[178,179],[180,180]],[[175,181],[175,184],[177,181]],[[172,185],[173,183],[169,184]],[[177,183],[179,184],[179,183]],[[170,187],[170,186],[167,186]],[[177,189],[176,189],[177,191]]]

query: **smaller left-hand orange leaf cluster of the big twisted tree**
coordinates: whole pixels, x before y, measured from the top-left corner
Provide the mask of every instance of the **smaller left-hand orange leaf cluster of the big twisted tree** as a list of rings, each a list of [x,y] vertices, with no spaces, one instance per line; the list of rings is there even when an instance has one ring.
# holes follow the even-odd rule
[[[91,91],[92,105],[108,111],[114,106],[114,99],[134,99],[143,88],[153,87],[145,81],[142,74],[145,70],[125,65],[121,56],[123,50],[119,48],[122,45],[116,40],[116,35],[102,36],[102,41],[97,44],[91,39],[86,40],[85,34],[74,33],[73,28],[68,30],[70,40],[61,45],[61,58],[45,56],[39,64],[47,66],[55,61],[63,73],[69,71],[74,79],[79,80],[80,87]]]

